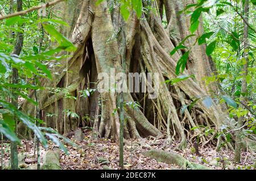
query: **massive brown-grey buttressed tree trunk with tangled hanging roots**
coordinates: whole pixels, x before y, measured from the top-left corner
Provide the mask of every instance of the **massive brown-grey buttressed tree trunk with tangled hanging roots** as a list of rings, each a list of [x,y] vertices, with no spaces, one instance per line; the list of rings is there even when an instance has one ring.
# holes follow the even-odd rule
[[[89,98],[81,98],[79,92],[86,87],[95,87],[96,84],[92,82],[97,81],[98,73],[105,72],[110,77],[110,69],[114,69],[116,74],[122,72],[122,53],[120,52],[122,52],[123,45],[121,33],[118,33],[119,28],[122,28],[122,17],[119,13],[119,7],[114,6],[114,9],[109,11],[108,3],[113,3],[112,1],[104,1],[95,6],[96,2],[96,0],[83,1],[81,10],[74,10],[76,12],[73,13],[73,19],[68,21],[71,25],[76,22],[71,26],[73,29],[69,38],[76,45],[77,50],[72,53],[72,57],[68,60],[68,70],[71,73],[68,73],[67,90],[77,99],[68,99],[66,109],[75,111],[79,114],[80,119],[68,117],[67,132],[88,125],[82,117],[89,115],[92,120],[89,124],[94,126],[96,135],[118,140],[119,116],[118,112],[113,114],[113,111],[117,109],[117,94],[96,92]],[[132,12],[125,24],[126,73],[159,73],[159,81],[164,82],[166,79],[176,77],[176,62],[182,55],[182,52],[178,51],[174,56],[170,56],[170,51],[181,39],[189,35],[190,22],[188,17],[177,12],[188,3],[195,2],[164,0],[152,1],[151,3],[146,6],[154,7],[159,13],[150,12],[143,15],[142,19],[137,19],[135,13]],[[166,17],[163,17],[165,16],[163,12],[166,12]],[[167,19],[167,27],[163,26],[162,19]],[[203,33],[203,24],[200,25],[196,35],[201,33]],[[192,37],[185,42],[185,45],[191,46],[194,41],[195,38]],[[203,77],[212,72],[209,58],[205,54],[205,45],[196,45],[191,52],[184,74],[194,74],[196,79],[189,78],[176,83],[175,86],[160,83],[160,92],[158,92],[159,96],[156,99],[148,99],[148,94],[144,93],[123,94],[125,102],[136,101],[144,108],[133,110],[133,108],[126,106],[125,138],[160,136],[167,131],[168,115],[170,115],[171,121],[172,140],[180,140],[178,149],[184,148],[187,140],[195,140],[196,136],[201,133],[200,129],[190,131],[192,127],[205,125],[215,131],[220,129],[226,116],[217,104],[207,108],[202,100],[199,100],[191,111],[185,110],[184,115],[180,113],[181,107],[191,103],[195,98],[209,95],[209,90],[218,91],[216,85],[206,87],[202,81]],[[67,75],[65,71],[62,71],[67,66],[66,61],[61,61],[61,66],[55,70],[60,73],[55,75],[57,87],[64,87],[67,83],[65,82]],[[41,82],[44,87],[53,87],[54,85],[53,82],[46,79]],[[33,95],[31,92],[31,96]],[[64,132],[63,96],[63,91],[56,95],[49,94],[47,89],[39,92],[42,118],[47,120],[48,126],[55,128],[55,123],[52,118],[46,117],[46,113],[57,109],[59,112],[57,117],[58,130],[61,133]],[[58,103],[57,108],[55,107],[56,101]],[[23,109],[27,113],[34,111],[34,107],[29,102],[23,103]],[[215,142],[213,137],[204,137],[201,134],[201,143]]]

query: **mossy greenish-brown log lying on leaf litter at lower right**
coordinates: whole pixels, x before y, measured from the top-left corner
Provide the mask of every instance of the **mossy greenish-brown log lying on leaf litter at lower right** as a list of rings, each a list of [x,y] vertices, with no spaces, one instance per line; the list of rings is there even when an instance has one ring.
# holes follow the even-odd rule
[[[193,169],[193,170],[209,170],[210,167],[201,165],[199,163],[193,163],[185,159],[180,154],[174,151],[163,151],[163,150],[148,150],[142,152],[146,157],[154,158],[159,162],[164,162],[168,164],[175,164],[182,169]]]

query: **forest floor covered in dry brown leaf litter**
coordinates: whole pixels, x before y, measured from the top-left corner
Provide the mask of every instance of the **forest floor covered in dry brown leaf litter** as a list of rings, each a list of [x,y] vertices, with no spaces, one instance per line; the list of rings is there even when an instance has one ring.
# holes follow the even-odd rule
[[[63,170],[76,170],[76,169],[119,169],[119,148],[116,142],[105,138],[92,138],[92,132],[85,131],[84,141],[75,141],[73,137],[71,140],[75,142],[78,147],[67,146],[69,155],[60,152],[60,165]],[[144,157],[141,153],[149,149],[159,149],[164,151],[174,150],[177,143],[173,142],[170,146],[166,146],[165,138],[144,138],[143,140],[127,140],[127,145],[124,146],[124,160],[125,169],[162,169],[172,170],[179,169],[176,165],[170,165]],[[139,144],[138,144],[139,143]],[[26,146],[27,145],[27,146]],[[5,144],[3,163],[9,164],[10,148],[9,144]],[[56,145],[49,143],[49,149],[56,147]],[[1,146],[0,146],[1,148]],[[26,150],[27,148],[27,150]],[[133,149],[131,149],[133,148]],[[18,147],[19,153],[26,153],[27,158],[32,158],[34,155],[34,141],[22,141]],[[40,155],[46,153],[46,149],[40,146]],[[256,153],[249,151],[242,151],[242,163],[235,165],[233,163],[234,154],[232,151],[221,150],[215,151],[211,145],[200,148],[201,157],[192,154],[191,147],[187,149],[176,151],[183,155],[191,162],[200,163],[209,166],[212,169],[253,169],[253,164],[256,158]],[[43,162],[43,161],[42,161]],[[23,167],[28,167],[31,164],[26,164]]]

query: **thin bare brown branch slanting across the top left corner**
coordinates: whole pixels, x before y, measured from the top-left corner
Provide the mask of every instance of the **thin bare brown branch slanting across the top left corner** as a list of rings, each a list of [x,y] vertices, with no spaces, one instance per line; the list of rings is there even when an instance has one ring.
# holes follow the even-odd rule
[[[13,14],[9,14],[9,15],[6,15],[6,16],[1,16],[0,20],[6,19],[6,18],[11,18],[11,17],[14,17],[14,16],[24,15],[24,14],[27,14],[28,12],[31,12],[31,11],[35,11],[35,10],[39,10],[39,9],[42,9],[42,8],[50,7],[50,6],[56,5],[57,3],[61,2],[61,1],[64,1],[64,0],[56,0],[56,1],[53,1],[53,2],[48,2],[48,3],[45,3],[43,5],[31,7],[30,9],[27,9],[27,10],[24,10],[24,11],[19,11],[19,12],[15,12]]]

